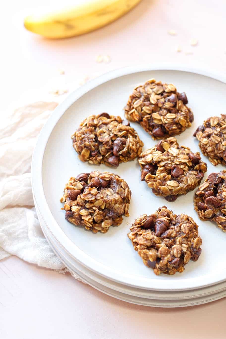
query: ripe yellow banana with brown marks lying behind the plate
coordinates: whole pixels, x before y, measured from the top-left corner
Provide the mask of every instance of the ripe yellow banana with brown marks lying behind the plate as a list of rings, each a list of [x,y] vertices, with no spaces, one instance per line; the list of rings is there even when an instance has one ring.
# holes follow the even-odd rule
[[[70,38],[107,25],[141,0],[93,0],[24,19],[28,31],[50,39]]]

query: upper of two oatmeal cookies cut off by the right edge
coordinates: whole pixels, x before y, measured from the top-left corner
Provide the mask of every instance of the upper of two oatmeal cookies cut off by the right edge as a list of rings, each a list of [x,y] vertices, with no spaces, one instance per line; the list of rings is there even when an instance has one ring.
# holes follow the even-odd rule
[[[226,115],[208,118],[193,136],[199,140],[202,153],[214,166],[226,165]]]

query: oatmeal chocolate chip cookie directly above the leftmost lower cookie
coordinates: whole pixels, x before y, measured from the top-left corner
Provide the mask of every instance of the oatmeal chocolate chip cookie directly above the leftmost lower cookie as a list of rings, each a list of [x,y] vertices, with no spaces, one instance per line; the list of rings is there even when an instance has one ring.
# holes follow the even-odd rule
[[[80,160],[115,167],[139,156],[144,145],[127,120],[107,113],[86,118],[71,138]]]

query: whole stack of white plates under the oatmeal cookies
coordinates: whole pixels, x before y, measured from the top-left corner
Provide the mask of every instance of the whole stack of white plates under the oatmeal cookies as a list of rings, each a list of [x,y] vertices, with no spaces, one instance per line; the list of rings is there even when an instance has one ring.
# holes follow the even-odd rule
[[[150,70],[151,69],[151,70]],[[60,104],[43,127],[32,161],[32,186],[42,230],[55,253],[83,281],[98,290],[128,302],[157,307],[198,305],[226,296],[225,237],[211,222],[202,222],[193,209],[194,192],[167,202],[156,197],[140,181],[138,162],[122,163],[118,168],[89,165],[78,159],[70,136],[79,123],[91,114],[108,112],[123,117],[132,89],[155,78],[173,83],[186,92],[188,106],[194,113],[192,127],[178,136],[181,145],[199,151],[192,137],[203,120],[224,113],[225,80],[208,72],[176,65],[144,65],[120,69],[87,83]],[[214,93],[214,95],[213,95]],[[211,98],[211,100],[209,100]],[[144,148],[155,145],[139,124],[131,124],[144,142]],[[219,172],[208,159],[208,172]],[[65,183],[71,176],[93,170],[110,171],[128,183],[132,191],[130,217],[106,234],[93,234],[65,220],[59,202]],[[203,239],[202,254],[197,262],[189,261],[183,273],[155,276],[147,268],[127,238],[132,222],[142,214],[152,214],[166,205],[176,214],[191,216],[199,225]]]

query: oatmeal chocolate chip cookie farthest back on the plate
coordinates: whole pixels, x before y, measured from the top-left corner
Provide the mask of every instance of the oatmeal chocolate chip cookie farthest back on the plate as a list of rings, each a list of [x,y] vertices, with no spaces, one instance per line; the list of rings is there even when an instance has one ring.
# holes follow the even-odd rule
[[[153,139],[178,135],[191,126],[193,113],[186,94],[172,84],[150,79],[133,90],[124,108],[125,117],[137,121]]]

